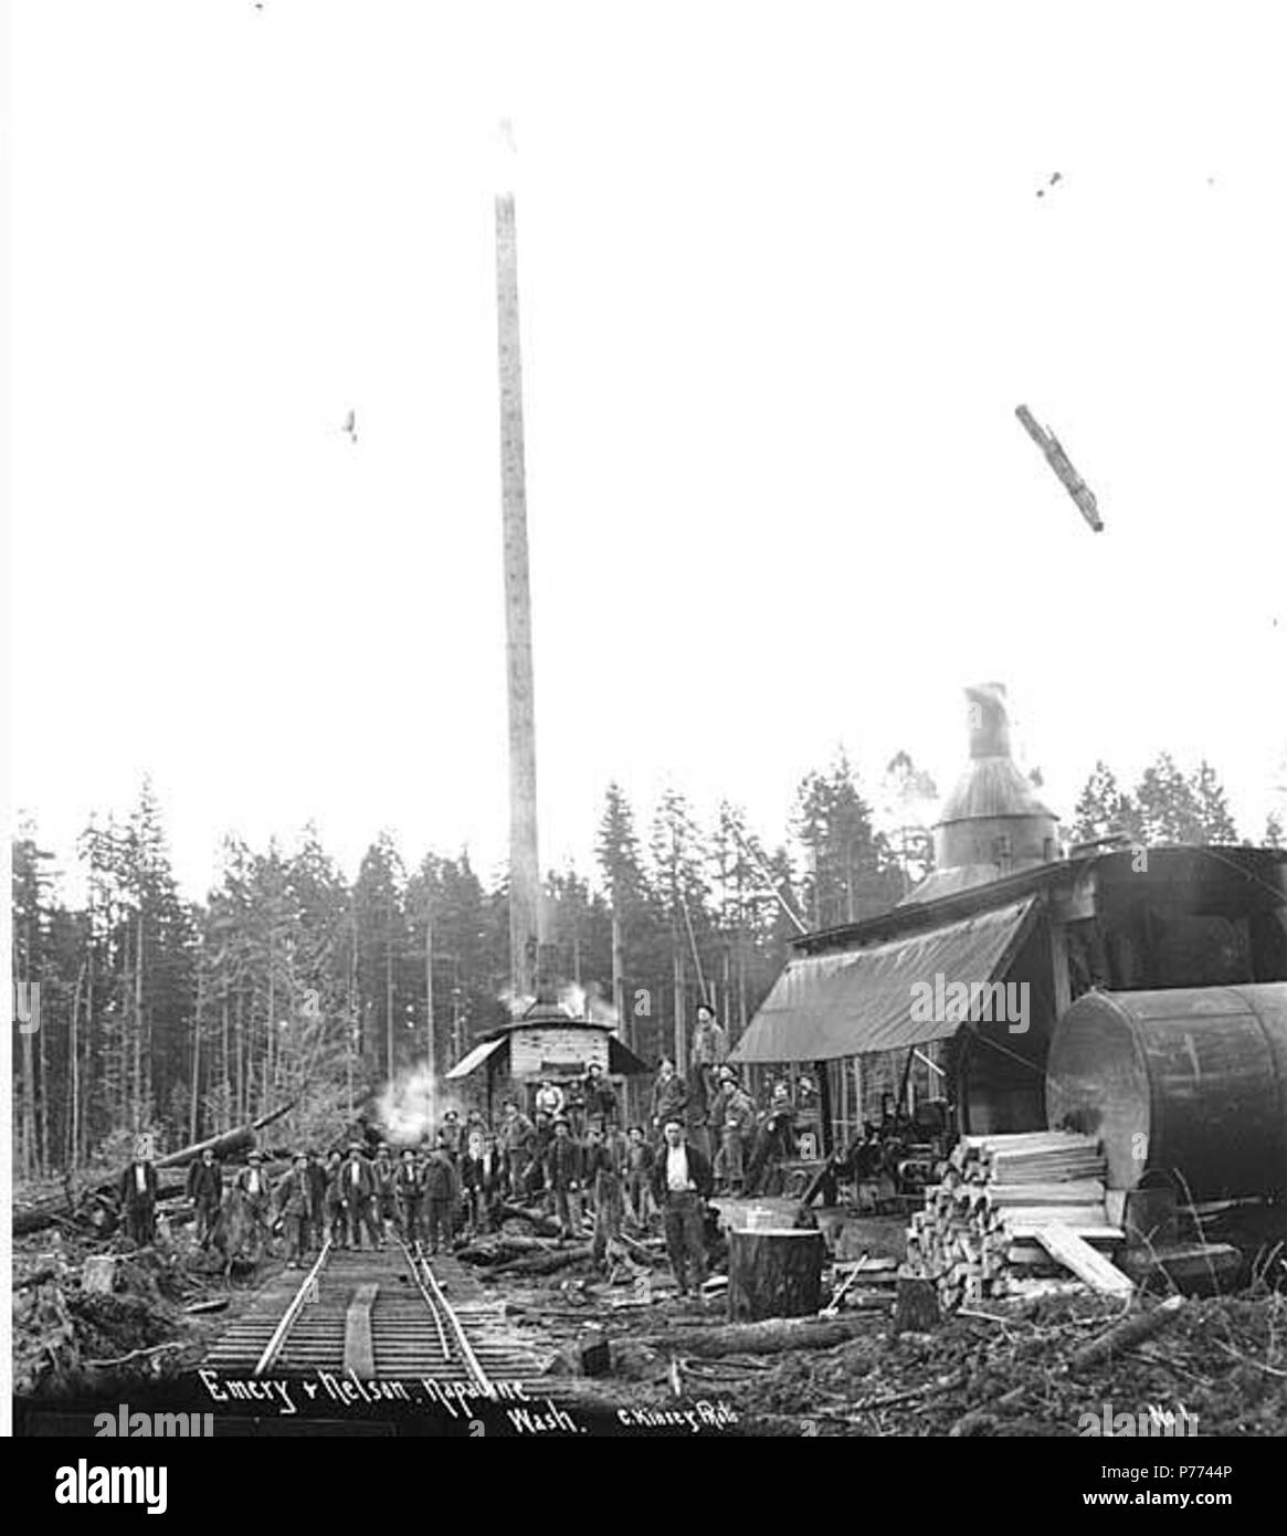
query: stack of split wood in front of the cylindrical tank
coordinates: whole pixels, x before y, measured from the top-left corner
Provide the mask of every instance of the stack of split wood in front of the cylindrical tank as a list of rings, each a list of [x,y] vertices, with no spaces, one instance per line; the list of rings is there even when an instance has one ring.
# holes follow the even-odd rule
[[[941,1181],[926,1189],[925,1209],[912,1213],[903,1273],[932,1279],[945,1309],[1040,1295],[1049,1276],[1066,1281],[1069,1269],[1095,1289],[1113,1289],[1112,1275],[1129,1286],[1106,1258],[1097,1267],[1095,1250],[1126,1236],[1104,1209],[1104,1174],[1095,1137],[961,1137]]]

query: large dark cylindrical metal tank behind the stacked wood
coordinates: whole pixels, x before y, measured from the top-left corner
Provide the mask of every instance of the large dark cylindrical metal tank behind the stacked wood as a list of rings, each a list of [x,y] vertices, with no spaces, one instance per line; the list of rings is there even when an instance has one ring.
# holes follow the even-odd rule
[[[1087,992],[1050,1037],[1046,1123],[1101,1135],[1113,1189],[1287,1193],[1287,983]]]

